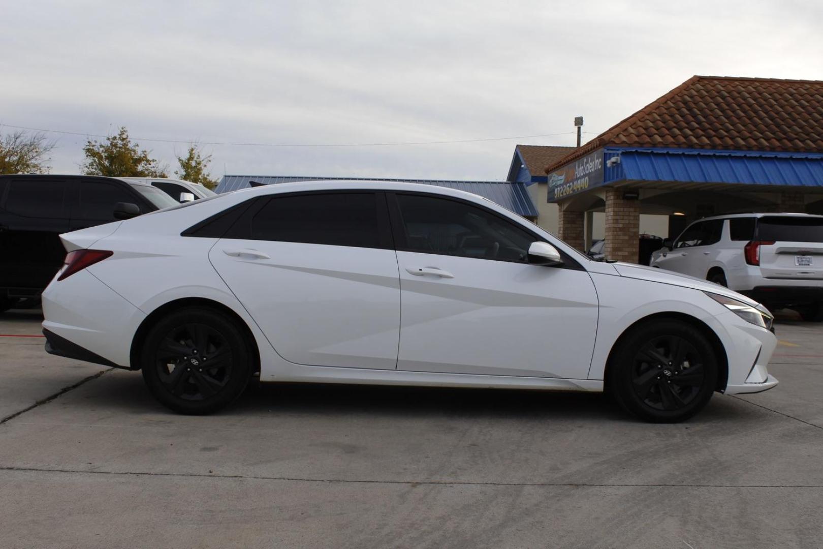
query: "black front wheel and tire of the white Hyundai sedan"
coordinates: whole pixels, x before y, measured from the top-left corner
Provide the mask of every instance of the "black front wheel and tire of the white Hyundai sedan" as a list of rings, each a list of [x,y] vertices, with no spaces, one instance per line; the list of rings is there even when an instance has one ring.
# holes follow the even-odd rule
[[[717,379],[709,340],[690,324],[666,319],[641,324],[622,339],[611,357],[607,391],[645,421],[675,423],[700,412]]]

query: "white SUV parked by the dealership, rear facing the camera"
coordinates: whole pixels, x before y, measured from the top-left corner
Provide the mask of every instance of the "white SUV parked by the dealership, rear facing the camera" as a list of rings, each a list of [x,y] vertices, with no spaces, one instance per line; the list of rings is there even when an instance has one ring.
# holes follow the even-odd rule
[[[746,213],[706,217],[664,241],[652,267],[705,278],[770,309],[823,320],[823,216]]]

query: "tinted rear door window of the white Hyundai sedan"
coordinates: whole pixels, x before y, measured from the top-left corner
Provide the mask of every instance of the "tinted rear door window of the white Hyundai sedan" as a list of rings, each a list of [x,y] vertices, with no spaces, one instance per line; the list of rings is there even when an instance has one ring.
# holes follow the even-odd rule
[[[299,194],[270,199],[252,220],[253,240],[379,247],[378,195]],[[383,199],[383,195],[379,195]]]

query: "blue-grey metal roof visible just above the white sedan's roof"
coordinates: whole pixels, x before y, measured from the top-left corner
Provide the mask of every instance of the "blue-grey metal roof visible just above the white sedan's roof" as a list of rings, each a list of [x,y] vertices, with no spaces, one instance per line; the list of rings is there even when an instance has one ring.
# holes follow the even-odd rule
[[[288,177],[272,175],[224,175],[215,189],[216,193],[230,193],[240,188],[248,188],[249,181],[272,185],[293,183],[297,181],[391,181],[402,183],[419,183],[435,187],[457,188],[467,193],[479,194],[492,202],[500,204],[507,210],[525,217],[537,217],[537,207],[523,183],[507,181],[453,181],[441,179],[384,179],[357,177]]]

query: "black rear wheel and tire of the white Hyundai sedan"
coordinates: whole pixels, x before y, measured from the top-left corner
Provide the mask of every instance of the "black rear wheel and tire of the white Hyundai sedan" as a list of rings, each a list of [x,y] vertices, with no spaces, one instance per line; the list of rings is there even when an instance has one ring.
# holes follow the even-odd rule
[[[226,407],[243,393],[253,374],[252,357],[233,319],[198,307],[160,319],[146,335],[140,365],[160,403],[174,412],[202,415]]]

